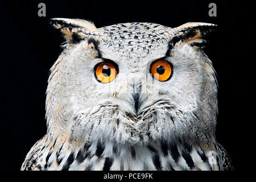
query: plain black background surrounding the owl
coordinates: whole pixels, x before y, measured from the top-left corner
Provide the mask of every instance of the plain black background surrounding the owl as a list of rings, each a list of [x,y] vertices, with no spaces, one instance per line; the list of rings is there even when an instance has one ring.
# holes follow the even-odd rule
[[[46,3],[46,17],[38,4]],[[209,3],[217,17],[208,15]],[[255,15],[245,15],[236,1],[0,1],[1,13],[1,170],[19,170],[32,145],[46,134],[45,100],[49,68],[64,42],[48,25],[50,18],[81,18],[96,27],[126,22],[152,22],[177,27],[187,22],[218,25],[205,50],[218,75],[217,140],[237,170],[247,169],[249,138],[245,107],[245,47],[255,42]],[[251,24],[246,24],[249,19]],[[245,28],[246,27],[246,28]],[[248,36],[248,34],[250,36]],[[254,85],[254,82],[250,82]],[[246,151],[246,152],[245,152]]]

